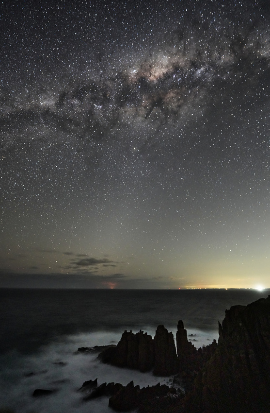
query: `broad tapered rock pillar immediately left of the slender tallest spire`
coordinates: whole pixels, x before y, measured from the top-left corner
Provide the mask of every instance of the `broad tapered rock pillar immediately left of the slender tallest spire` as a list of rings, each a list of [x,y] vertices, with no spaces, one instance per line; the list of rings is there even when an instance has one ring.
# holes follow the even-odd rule
[[[164,326],[158,326],[154,337],[155,365],[153,374],[171,376],[178,372],[178,359],[175,349],[174,335]]]

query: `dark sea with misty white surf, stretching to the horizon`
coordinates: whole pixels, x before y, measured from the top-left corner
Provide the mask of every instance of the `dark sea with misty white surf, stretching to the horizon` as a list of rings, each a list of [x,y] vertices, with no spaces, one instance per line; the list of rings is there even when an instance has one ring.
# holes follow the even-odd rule
[[[198,348],[218,339],[218,321],[233,305],[247,305],[270,290],[38,290],[0,289],[0,409],[16,413],[109,413],[108,397],[82,401],[85,380],[141,387],[159,378],[100,363],[79,347],[117,344],[122,332],[154,336],[163,324],[174,336],[183,320]],[[34,389],[56,390],[32,397]]]

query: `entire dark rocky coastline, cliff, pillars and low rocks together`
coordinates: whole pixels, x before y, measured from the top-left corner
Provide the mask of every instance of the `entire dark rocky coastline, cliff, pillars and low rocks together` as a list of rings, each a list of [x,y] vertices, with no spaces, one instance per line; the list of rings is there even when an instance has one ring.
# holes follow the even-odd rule
[[[103,363],[170,377],[170,386],[140,388],[133,381],[84,382],[82,400],[109,397],[119,412],[266,413],[270,412],[270,296],[247,306],[233,306],[219,323],[219,340],[196,349],[178,322],[173,333],[157,327],[154,338],[143,331],[124,331],[117,345],[81,347]],[[33,396],[43,396],[37,389]]]

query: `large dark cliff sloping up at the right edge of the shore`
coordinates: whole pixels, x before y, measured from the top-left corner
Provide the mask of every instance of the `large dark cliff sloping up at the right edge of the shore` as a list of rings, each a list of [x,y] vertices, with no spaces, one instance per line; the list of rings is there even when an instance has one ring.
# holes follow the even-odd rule
[[[270,296],[226,310],[219,334],[185,412],[270,412]]]

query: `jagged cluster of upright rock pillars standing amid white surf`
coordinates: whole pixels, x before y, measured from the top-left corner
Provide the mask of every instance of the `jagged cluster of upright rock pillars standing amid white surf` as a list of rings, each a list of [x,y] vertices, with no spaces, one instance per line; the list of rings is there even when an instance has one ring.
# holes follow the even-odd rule
[[[210,358],[216,346],[214,340],[212,344],[197,350],[188,341],[187,330],[183,322],[179,321],[176,332],[177,353],[173,333],[160,325],[154,339],[143,331],[134,334],[131,330],[125,330],[119,343],[116,346],[104,346],[98,357],[102,362],[118,367],[142,372],[153,369],[156,376],[178,373],[193,382],[194,374],[197,374]],[[87,347],[86,349],[88,351]],[[83,347],[79,351],[86,350]]]

